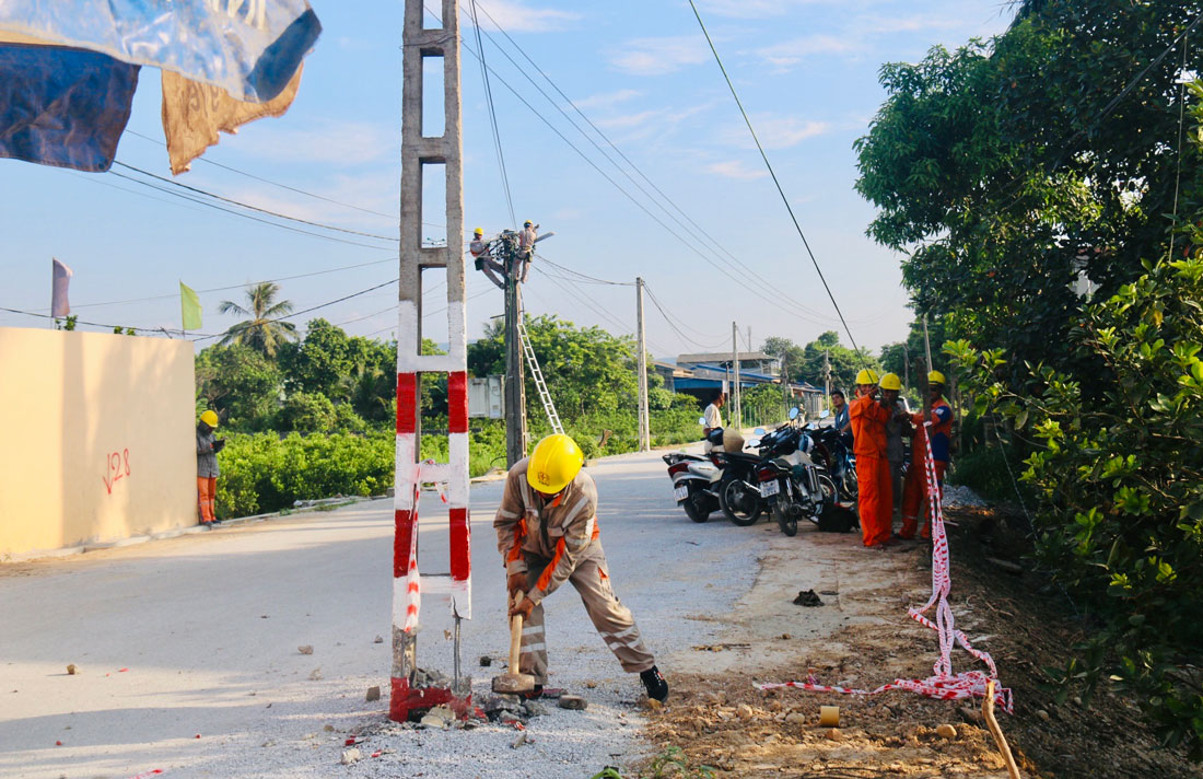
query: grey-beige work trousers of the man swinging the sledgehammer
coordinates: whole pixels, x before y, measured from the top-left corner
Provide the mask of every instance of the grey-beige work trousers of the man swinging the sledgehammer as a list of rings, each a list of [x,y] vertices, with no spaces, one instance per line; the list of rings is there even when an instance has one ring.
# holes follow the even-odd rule
[[[523,553],[523,556],[527,562],[527,589],[531,589],[551,561],[531,553]],[[639,673],[656,665],[652,653],[644,645],[630,609],[615,597],[610,588],[605,553],[599,542],[588,545],[568,580],[581,595],[585,612],[606,647],[622,663],[623,671]],[[541,603],[531,610],[531,618],[522,624],[518,667],[522,673],[533,675],[535,684],[547,684],[547,644],[543,630]]]

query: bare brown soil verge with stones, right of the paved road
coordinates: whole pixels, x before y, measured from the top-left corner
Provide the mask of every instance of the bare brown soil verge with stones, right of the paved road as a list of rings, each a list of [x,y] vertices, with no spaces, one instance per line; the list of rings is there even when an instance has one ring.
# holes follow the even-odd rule
[[[998,509],[949,511],[950,604],[956,627],[989,651],[1015,713],[997,718],[1024,777],[1179,779],[1201,768],[1157,746],[1139,712],[1102,694],[1084,706],[1057,706],[1043,667],[1065,662],[1083,632],[1068,600],[1021,560],[1023,518]],[[1017,521],[1018,520],[1018,521]],[[717,518],[711,521],[718,521]],[[719,777],[1007,777],[980,718],[980,700],[932,701],[890,691],[857,697],[783,689],[763,681],[806,680],[873,689],[895,678],[926,678],[938,654],[936,633],[907,618],[930,595],[931,563],[923,545],[877,551],[857,536],[800,532],[774,525],[753,589],[728,616],[722,643],[700,644],[665,672],[670,703],[650,712],[653,749],[683,750],[692,766]],[[991,560],[1019,562],[1023,568]],[[813,589],[819,607],[795,606]],[[954,672],[984,669],[961,650]],[[819,706],[838,706],[841,727],[820,727]],[[952,725],[955,737],[937,727]],[[947,734],[947,728],[946,734]],[[646,767],[646,766],[645,766]]]

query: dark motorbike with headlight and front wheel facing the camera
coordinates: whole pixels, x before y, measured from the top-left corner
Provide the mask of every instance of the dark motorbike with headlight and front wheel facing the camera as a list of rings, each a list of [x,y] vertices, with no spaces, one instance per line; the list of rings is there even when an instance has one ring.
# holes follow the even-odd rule
[[[837,508],[838,494],[826,471],[811,459],[814,448],[810,426],[796,424],[799,409],[792,408],[789,423],[772,432],[758,429],[761,460],[757,464],[755,477],[760,497],[769,508],[777,526],[787,536],[798,533],[798,520],[808,519],[820,530],[829,530],[832,512]],[[851,521],[845,518],[842,520]]]

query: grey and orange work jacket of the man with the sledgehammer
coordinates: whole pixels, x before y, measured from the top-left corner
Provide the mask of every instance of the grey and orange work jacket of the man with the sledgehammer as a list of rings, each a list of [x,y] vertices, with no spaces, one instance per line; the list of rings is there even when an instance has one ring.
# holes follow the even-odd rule
[[[531,459],[520,460],[505,479],[505,495],[493,519],[497,549],[505,574],[528,573],[527,555],[550,560],[527,597],[538,606],[568,580],[576,562],[598,541],[598,488],[585,471],[553,500],[531,488],[526,473]]]

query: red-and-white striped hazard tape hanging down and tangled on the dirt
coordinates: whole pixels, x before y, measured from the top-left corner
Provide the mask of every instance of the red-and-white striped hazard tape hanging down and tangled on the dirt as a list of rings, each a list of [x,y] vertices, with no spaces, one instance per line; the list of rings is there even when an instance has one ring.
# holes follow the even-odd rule
[[[930,427],[931,423],[924,423]],[[952,591],[952,570],[948,556],[948,535],[944,532],[944,514],[941,509],[940,480],[936,478],[936,466],[931,455],[931,441],[924,436],[926,448],[924,458],[924,471],[928,478],[928,512],[931,514],[931,597],[921,608],[907,609],[907,615],[937,632],[940,636],[940,657],[932,665],[932,675],[926,679],[895,679],[883,684],[876,690],[858,690],[853,687],[841,687],[828,684],[819,684],[818,679],[810,675],[806,681],[782,681],[757,685],[760,690],[776,690],[780,687],[796,687],[799,690],[811,690],[813,692],[840,692],[843,695],[878,695],[888,690],[909,690],[918,695],[936,698],[940,701],[956,701],[960,698],[984,698],[986,695],[986,683],[995,681],[995,706],[1014,714],[1014,702],[1011,689],[997,684],[998,669],[994,665],[994,659],[989,653],[974,649],[968,637],[956,630],[953,620],[953,609],[948,604],[948,594]],[[935,621],[928,616],[928,612],[935,608]],[[962,671],[953,673],[952,651],[959,645],[970,655],[980,660],[989,668],[989,673],[982,671]]]

